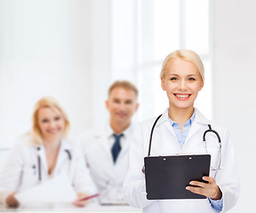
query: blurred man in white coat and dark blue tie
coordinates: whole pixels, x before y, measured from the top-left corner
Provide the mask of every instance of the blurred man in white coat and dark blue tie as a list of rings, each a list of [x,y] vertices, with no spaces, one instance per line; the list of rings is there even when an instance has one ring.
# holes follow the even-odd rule
[[[138,110],[138,90],[128,81],[116,81],[108,89],[108,123],[84,132],[79,146],[100,192],[100,203],[124,203],[123,183],[128,170],[132,115]]]

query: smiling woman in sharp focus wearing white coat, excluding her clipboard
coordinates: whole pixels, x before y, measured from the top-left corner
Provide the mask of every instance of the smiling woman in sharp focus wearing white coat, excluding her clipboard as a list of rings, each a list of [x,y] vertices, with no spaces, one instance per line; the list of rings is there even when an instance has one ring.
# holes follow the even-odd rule
[[[205,195],[206,199],[147,200],[145,175],[141,172],[144,157],[148,155],[148,140],[156,118],[140,122],[134,127],[130,146],[129,170],[124,180],[124,199],[144,213],[172,212],[226,212],[235,206],[239,195],[234,146],[228,130],[211,122],[194,107],[199,91],[204,86],[204,66],[194,51],[174,51],[164,59],[161,86],[169,99],[169,108],[156,122],[150,155],[211,154],[208,184],[192,181],[186,189]],[[215,134],[221,138],[221,148]],[[221,154],[220,154],[221,153]]]

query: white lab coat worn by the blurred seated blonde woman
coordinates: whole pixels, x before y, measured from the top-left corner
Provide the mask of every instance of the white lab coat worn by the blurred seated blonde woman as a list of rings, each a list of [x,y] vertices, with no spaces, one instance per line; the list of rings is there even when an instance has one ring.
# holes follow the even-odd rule
[[[67,151],[71,154],[71,160]],[[41,159],[41,181],[39,181],[38,156]],[[48,175],[44,146],[31,144],[31,137],[20,138],[12,146],[4,167],[0,172],[0,203],[5,204],[6,197],[12,192],[26,191],[52,177],[66,174],[76,193],[97,193],[89,170],[85,167],[82,153],[66,139],[61,140],[60,152],[51,177]]]

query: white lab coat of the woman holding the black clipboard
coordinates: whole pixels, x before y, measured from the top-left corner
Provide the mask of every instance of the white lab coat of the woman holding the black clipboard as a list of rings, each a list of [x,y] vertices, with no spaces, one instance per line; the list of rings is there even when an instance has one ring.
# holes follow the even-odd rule
[[[132,130],[132,141],[129,152],[129,170],[124,180],[124,200],[133,207],[143,208],[144,213],[172,213],[193,212],[206,213],[215,212],[208,199],[196,200],[156,200],[149,201],[146,197],[145,176],[141,172],[143,159],[148,155],[149,135],[156,118],[140,122]],[[188,132],[185,144],[180,149],[179,142],[175,137],[172,124],[168,120],[168,109],[164,111],[158,120],[154,130],[151,156],[170,154],[205,154],[203,134],[208,130],[207,124],[212,125],[212,130],[220,134],[222,141],[222,170],[210,171],[210,176],[215,177],[223,196],[223,209],[226,212],[235,206],[239,196],[238,177],[236,172],[236,161],[234,146],[229,138],[228,130],[220,125],[207,120],[203,114],[196,109],[196,118]],[[214,134],[206,136],[208,153],[212,155],[211,164],[213,168],[218,167],[219,149],[218,140]]]

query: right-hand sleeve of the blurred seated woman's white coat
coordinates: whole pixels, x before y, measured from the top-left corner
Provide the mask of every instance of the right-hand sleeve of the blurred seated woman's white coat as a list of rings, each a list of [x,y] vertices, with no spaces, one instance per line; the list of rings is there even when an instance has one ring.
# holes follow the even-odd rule
[[[90,171],[86,166],[86,162],[84,160],[84,156],[78,147],[76,148],[76,157],[74,169],[74,179],[73,185],[75,187],[76,193],[86,193],[88,195],[97,193],[96,185],[94,184]]]

